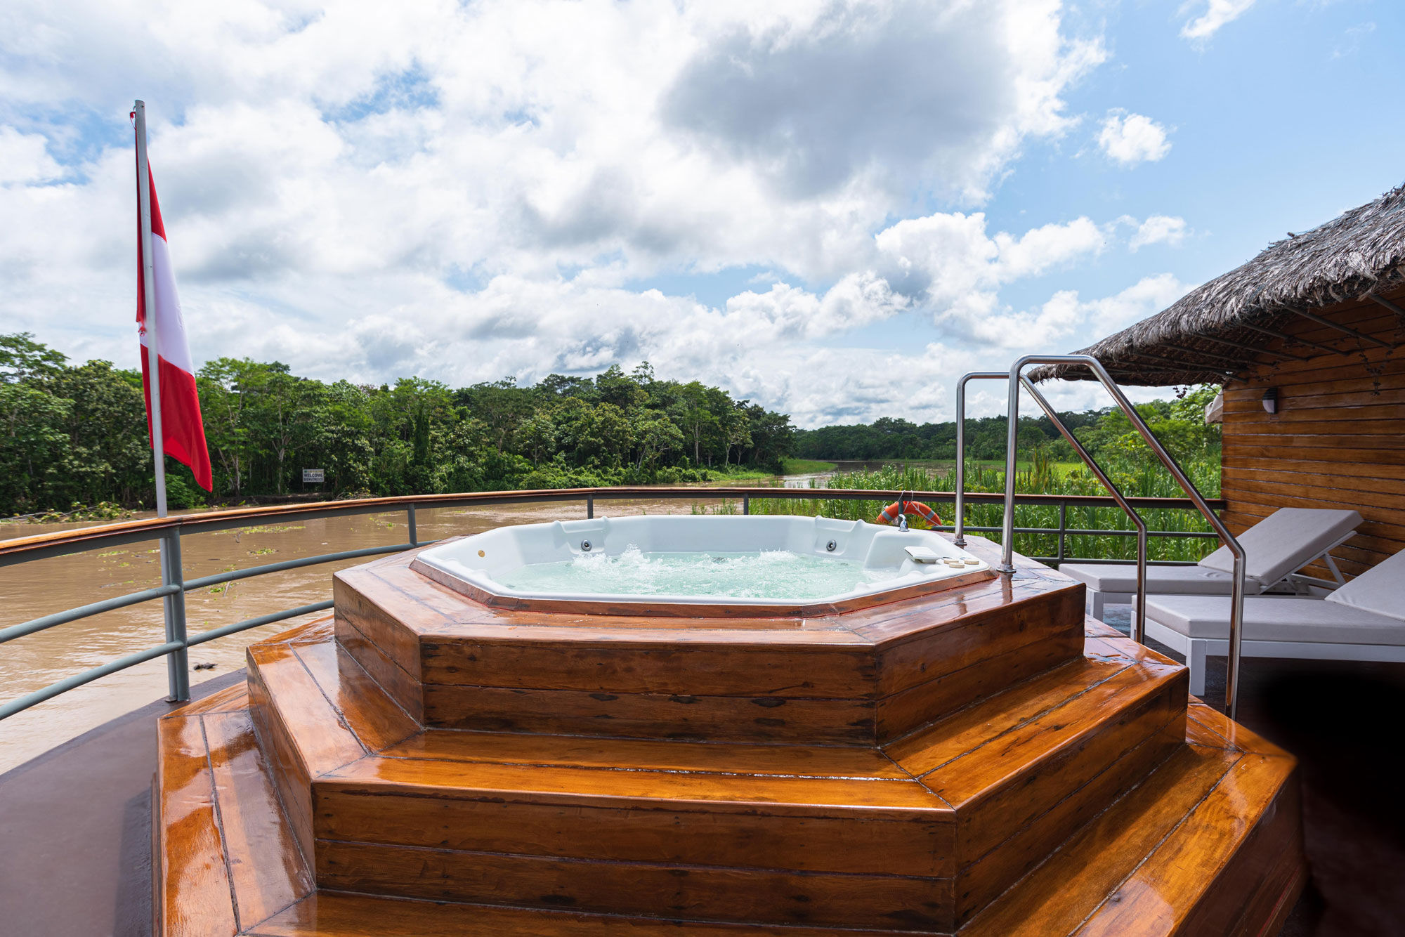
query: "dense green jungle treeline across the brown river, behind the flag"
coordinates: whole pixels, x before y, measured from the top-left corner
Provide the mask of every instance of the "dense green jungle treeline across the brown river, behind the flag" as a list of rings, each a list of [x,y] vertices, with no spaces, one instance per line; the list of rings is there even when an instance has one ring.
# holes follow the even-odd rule
[[[282,364],[218,358],[197,375],[216,500],[301,490],[422,494],[701,482],[778,472],[790,417],[642,364],[452,389],[325,384]],[[107,361],[69,364],[28,333],[0,336],[0,516],[155,500],[142,379]],[[167,459],[173,507],[212,500]]]

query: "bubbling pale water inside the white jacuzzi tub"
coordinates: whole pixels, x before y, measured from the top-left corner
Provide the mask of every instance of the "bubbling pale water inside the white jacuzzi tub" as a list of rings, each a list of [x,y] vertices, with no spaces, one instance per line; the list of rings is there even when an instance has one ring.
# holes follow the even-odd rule
[[[788,549],[642,552],[631,544],[614,556],[584,553],[555,563],[530,563],[496,579],[510,589],[534,593],[804,600],[847,593],[891,575]]]

